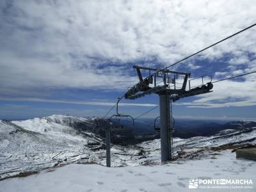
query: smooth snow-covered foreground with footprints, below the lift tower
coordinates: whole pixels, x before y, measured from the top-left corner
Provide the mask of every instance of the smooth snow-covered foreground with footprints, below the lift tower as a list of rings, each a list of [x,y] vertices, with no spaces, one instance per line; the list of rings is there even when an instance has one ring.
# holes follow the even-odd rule
[[[256,190],[255,161],[236,159],[236,154],[230,150],[211,156],[216,159],[188,160],[154,166],[106,168],[99,164],[69,164],[28,177],[3,180],[0,182],[0,191]],[[253,184],[240,185],[250,189],[189,189],[191,179],[252,179]],[[229,186],[231,185],[227,185]]]

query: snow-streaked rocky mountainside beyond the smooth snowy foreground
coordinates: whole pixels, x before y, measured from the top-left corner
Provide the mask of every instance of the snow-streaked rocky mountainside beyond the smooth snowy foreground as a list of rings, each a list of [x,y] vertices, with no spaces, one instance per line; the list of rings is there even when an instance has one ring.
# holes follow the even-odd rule
[[[186,156],[202,148],[222,145],[256,143],[256,127],[226,130],[211,137],[174,138],[174,153],[182,150]],[[90,132],[93,124],[85,118],[52,115],[24,121],[0,120],[0,179],[20,172],[38,171],[67,163],[95,162],[106,164],[104,140]],[[88,144],[93,145],[88,145]],[[209,158],[203,153],[198,159]],[[160,164],[160,141],[152,140],[138,145],[112,145],[112,166]]]

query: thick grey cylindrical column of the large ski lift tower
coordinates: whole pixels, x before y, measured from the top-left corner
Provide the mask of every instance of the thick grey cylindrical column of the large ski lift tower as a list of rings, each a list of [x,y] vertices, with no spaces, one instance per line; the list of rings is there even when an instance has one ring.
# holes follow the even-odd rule
[[[167,94],[159,95],[160,106],[160,137],[161,161],[170,160],[170,97]]]

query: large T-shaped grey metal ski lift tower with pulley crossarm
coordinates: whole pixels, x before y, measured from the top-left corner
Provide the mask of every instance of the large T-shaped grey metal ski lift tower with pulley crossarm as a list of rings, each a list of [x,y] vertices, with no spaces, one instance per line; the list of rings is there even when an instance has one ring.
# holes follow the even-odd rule
[[[207,83],[204,83],[205,76],[188,81],[190,73],[186,72],[171,71],[167,68],[157,69],[140,66],[134,66],[133,68],[136,69],[140,81],[125,93],[124,98],[138,99],[152,93],[159,95],[161,161],[169,161],[173,159],[173,126],[170,103],[183,97],[212,92],[212,78]],[[149,76],[143,79],[141,70],[147,70]],[[151,75],[151,72],[154,72],[154,74]],[[176,82],[180,77],[183,79],[181,87],[177,86]],[[197,83],[198,80],[200,84],[191,86],[192,81]],[[189,83],[188,88],[187,83]]]

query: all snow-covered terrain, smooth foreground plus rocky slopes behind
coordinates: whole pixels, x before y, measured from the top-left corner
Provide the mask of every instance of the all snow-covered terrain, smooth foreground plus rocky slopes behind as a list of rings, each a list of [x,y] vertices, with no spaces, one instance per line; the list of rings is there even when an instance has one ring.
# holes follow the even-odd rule
[[[85,118],[62,115],[0,120],[0,179],[40,172],[2,180],[0,191],[186,191],[188,180],[196,178],[256,183],[255,161],[236,159],[235,153],[224,150],[227,145],[256,144],[256,127],[227,129],[210,137],[174,138],[174,153],[182,155],[168,164],[161,164],[159,140],[112,145],[113,168],[104,167],[106,151],[95,149],[104,142],[89,131],[92,128]],[[65,166],[56,168],[61,165]]]

